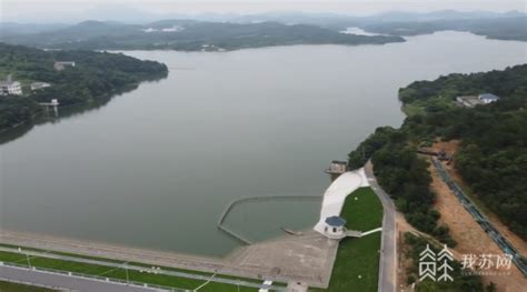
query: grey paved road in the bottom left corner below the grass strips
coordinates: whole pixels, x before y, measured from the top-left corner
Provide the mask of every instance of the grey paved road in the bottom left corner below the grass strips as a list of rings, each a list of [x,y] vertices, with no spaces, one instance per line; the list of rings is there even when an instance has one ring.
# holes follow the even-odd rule
[[[152,288],[133,286],[120,283],[105,282],[92,279],[70,276],[66,274],[33,271],[16,266],[0,266],[0,279],[19,283],[38,283],[48,288],[66,291],[111,291],[111,292],[152,292],[165,291]]]

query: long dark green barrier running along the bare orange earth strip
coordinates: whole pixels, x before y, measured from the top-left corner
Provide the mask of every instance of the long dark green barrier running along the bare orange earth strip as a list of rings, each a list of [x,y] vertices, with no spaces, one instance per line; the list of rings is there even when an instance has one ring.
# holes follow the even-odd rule
[[[490,221],[484,215],[481,211],[473,203],[473,201],[465,194],[465,192],[455,183],[448,172],[445,170],[443,164],[436,159],[431,159],[434,167],[436,168],[439,177],[448,185],[448,188],[454,192],[463,207],[470,213],[470,215],[478,222],[485,232],[487,232],[490,238],[498,244],[498,246],[507,254],[513,255],[513,262],[518,266],[524,276],[527,275],[527,263],[524,255],[510,243],[508,242],[501,233],[490,223]]]

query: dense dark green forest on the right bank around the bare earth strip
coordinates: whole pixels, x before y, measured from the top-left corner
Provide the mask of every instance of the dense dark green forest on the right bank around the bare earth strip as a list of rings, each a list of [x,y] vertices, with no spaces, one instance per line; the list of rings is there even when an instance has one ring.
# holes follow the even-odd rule
[[[490,92],[500,99],[468,109],[457,95]],[[419,110],[400,129],[379,128],[349,154],[352,168],[371,158],[379,183],[419,230],[444,242],[437,226],[430,174],[416,148],[436,138],[459,139],[456,167],[477,197],[515,233],[527,239],[527,64],[473,74],[449,74],[400,89],[405,104]]]

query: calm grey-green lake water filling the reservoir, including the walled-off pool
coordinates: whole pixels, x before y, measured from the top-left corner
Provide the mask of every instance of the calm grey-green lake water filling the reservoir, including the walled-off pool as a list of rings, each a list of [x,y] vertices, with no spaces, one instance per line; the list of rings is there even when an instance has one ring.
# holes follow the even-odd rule
[[[126,53],[166,62],[169,77],[0,145],[1,228],[226,254],[238,243],[216,222],[231,200],[322,194],[330,160],[379,125],[400,125],[398,88],[527,61],[525,42],[461,32],[386,46]],[[227,223],[264,240],[280,226],[309,228],[319,205],[248,203]]]

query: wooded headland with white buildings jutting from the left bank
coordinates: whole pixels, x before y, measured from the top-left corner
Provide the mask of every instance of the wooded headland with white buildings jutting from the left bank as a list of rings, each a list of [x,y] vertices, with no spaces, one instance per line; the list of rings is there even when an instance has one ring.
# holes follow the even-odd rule
[[[74,67],[53,69],[56,61],[74,61]],[[0,131],[37,117],[38,102],[58,99],[61,105],[91,102],[132,88],[140,81],[163,78],[165,64],[141,61],[120,53],[93,51],[43,51],[0,43],[0,73],[23,84],[23,95],[0,97]],[[51,87],[31,91],[29,83]]]

